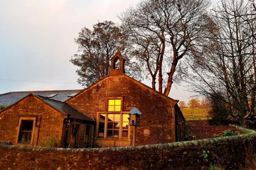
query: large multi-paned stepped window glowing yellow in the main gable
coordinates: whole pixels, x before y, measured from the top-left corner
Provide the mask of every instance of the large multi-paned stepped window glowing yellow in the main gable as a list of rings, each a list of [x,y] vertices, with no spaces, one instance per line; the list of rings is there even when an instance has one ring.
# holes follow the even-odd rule
[[[108,99],[106,113],[99,113],[98,138],[129,138],[129,115],[122,112],[122,99]]]

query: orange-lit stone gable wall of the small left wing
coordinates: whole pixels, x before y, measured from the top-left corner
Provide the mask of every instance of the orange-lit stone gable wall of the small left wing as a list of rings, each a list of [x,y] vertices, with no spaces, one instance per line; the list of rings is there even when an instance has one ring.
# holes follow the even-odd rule
[[[10,141],[17,145],[20,118],[35,118],[32,146],[38,146],[52,137],[61,141],[65,115],[33,95],[1,112],[0,141]]]

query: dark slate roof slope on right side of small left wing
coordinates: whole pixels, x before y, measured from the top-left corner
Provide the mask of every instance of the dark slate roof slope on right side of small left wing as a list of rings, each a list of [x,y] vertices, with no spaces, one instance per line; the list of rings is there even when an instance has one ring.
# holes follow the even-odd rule
[[[39,95],[36,95],[36,96],[39,97],[40,99],[42,99],[42,101],[44,101],[45,103],[52,106],[52,108],[55,108],[56,110],[60,111],[61,113],[64,113],[65,115],[70,114],[71,118],[77,118],[77,119],[81,119],[81,120],[88,120],[90,122],[94,122],[94,120],[92,118],[88,117],[87,115],[84,115],[83,113],[76,110],[75,108],[68,105],[67,103],[64,103],[61,101],[56,101],[56,100],[49,99],[47,97],[43,97],[43,96],[39,96]]]

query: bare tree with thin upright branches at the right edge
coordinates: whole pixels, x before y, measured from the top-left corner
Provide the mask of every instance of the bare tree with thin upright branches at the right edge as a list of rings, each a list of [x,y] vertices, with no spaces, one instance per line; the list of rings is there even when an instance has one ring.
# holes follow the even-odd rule
[[[216,27],[205,41],[204,53],[194,53],[188,81],[197,92],[220,94],[229,115],[241,123],[255,116],[255,10],[244,1],[221,1],[213,10]],[[250,102],[249,102],[250,101]],[[225,105],[226,106],[226,105]]]

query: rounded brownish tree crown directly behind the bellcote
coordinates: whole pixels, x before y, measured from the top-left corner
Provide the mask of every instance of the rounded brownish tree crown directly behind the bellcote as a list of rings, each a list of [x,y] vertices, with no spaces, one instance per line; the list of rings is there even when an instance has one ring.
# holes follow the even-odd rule
[[[79,67],[77,74],[78,83],[89,86],[108,75],[109,60],[116,52],[118,46],[122,48],[127,63],[127,74],[140,78],[140,67],[136,62],[131,62],[127,53],[127,36],[111,21],[98,22],[93,25],[93,30],[84,27],[75,39],[78,53],[70,60]]]

